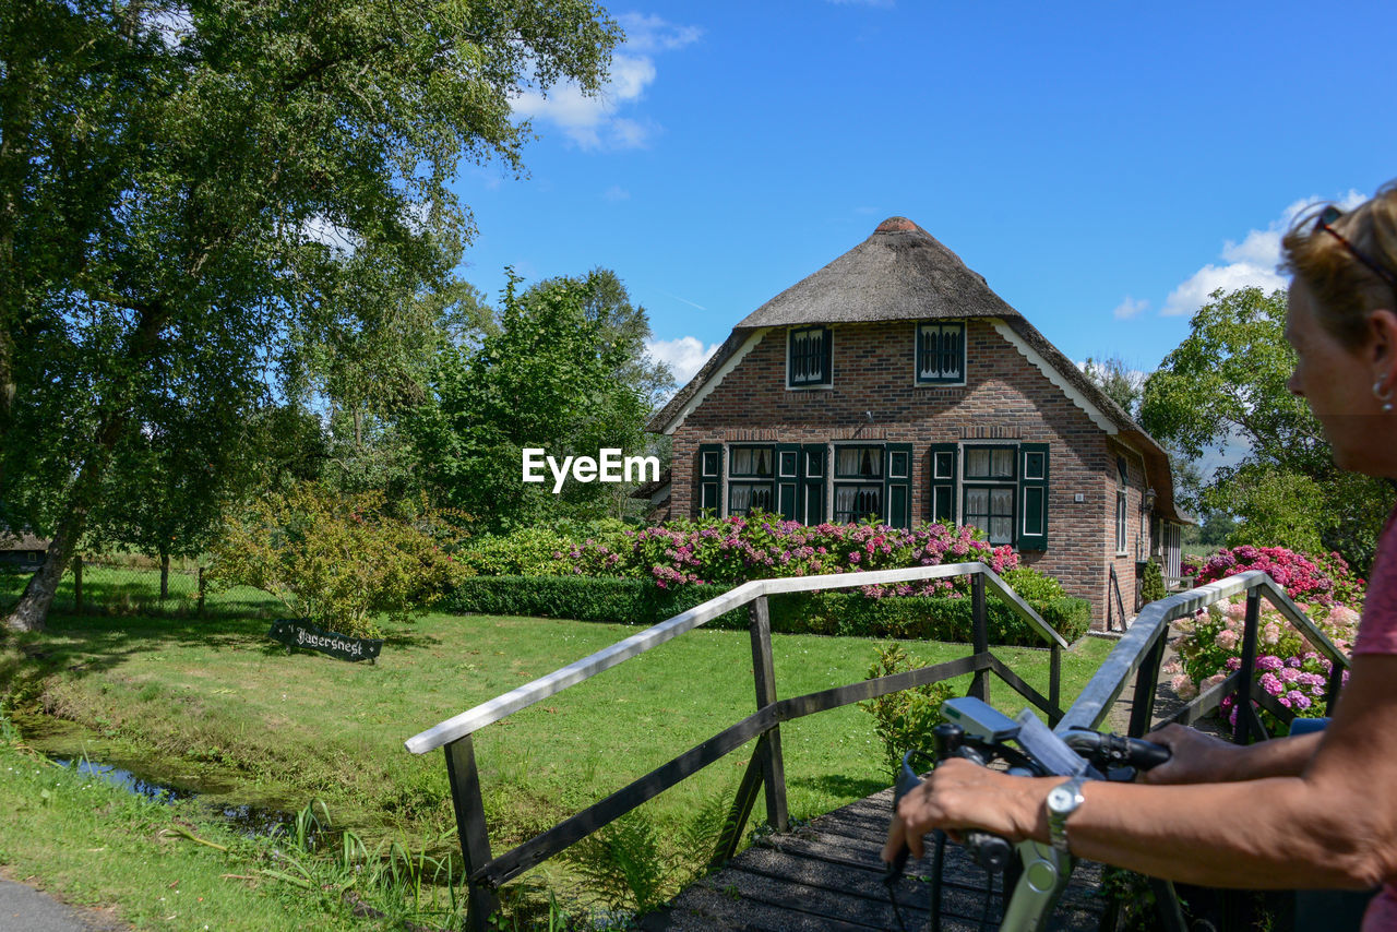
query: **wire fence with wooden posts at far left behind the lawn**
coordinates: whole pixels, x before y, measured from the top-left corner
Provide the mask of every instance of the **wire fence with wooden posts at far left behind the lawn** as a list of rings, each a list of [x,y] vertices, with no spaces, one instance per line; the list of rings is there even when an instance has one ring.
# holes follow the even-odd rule
[[[272,618],[281,602],[261,590],[217,590],[196,559],[161,562],[138,553],[84,553],[59,581],[50,611],[74,615],[242,615]],[[0,566],[0,608],[8,609],[36,571],[34,563]]]

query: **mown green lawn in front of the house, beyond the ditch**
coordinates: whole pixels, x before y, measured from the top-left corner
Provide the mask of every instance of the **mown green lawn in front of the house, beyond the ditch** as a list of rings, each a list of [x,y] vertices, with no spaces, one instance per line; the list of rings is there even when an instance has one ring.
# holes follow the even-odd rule
[[[126,745],[163,777],[222,782],[229,798],[300,808],[324,799],[337,823],[370,840],[455,851],[441,755],[402,741],[599,650],[636,629],[566,620],[432,615],[390,633],[377,665],[288,654],[246,618],[53,616],[10,636],[0,689],[13,710],[42,708]],[[876,643],[777,634],[782,697],[863,679]],[[1084,639],[1063,658],[1065,703],[1113,644]],[[923,662],[965,644],[911,644]],[[1048,692],[1046,651],[997,648]],[[964,692],[968,685],[958,683]],[[995,682],[1006,711],[1025,703]],[[698,629],[476,735],[496,852],[601,799],[753,711],[745,632]],[[856,707],[782,725],[791,815],[813,817],[888,784],[872,718]],[[648,803],[658,837],[731,799],[750,745]],[[92,755],[99,759],[98,753]],[[761,803],[754,819],[760,820]],[[673,854],[673,852],[671,852]],[[701,852],[692,852],[694,859]],[[553,886],[573,883],[556,862]],[[566,889],[560,890],[567,893]]]

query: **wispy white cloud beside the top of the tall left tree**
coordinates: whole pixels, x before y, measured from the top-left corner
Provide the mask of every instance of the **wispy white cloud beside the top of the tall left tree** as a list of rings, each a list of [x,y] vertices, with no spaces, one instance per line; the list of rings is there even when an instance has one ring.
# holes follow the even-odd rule
[[[626,43],[612,54],[610,77],[598,94],[583,94],[571,82],[553,88],[548,96],[538,91],[521,91],[511,102],[514,112],[553,123],[584,150],[645,145],[658,126],[651,120],[622,116],[622,110],[644,99],[645,88],[654,84],[658,71],[651,56],[697,42],[703,29],[636,13],[617,20],[626,29]]]

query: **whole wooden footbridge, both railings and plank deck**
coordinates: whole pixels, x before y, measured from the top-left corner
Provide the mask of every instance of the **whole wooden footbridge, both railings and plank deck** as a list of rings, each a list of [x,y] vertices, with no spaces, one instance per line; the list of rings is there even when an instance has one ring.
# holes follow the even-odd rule
[[[807,696],[777,699],[767,609],[768,595],[911,583],[954,576],[967,576],[971,583],[972,644],[967,657]],[[992,588],[1048,643],[1052,651],[1048,696],[1028,686],[990,650],[985,605],[986,588]],[[890,791],[816,819],[809,826],[793,827],[787,815],[781,722],[972,673],[970,694],[988,700],[989,680],[992,676],[997,678],[1041,710],[1058,732],[1076,727],[1099,728],[1111,720],[1115,729],[1140,736],[1150,731],[1160,718],[1154,700],[1158,694],[1160,665],[1166,648],[1169,623],[1238,594],[1245,594],[1248,599],[1241,669],[1166,717],[1189,724],[1217,708],[1224,696],[1235,694],[1239,700],[1239,710],[1243,710],[1243,714],[1238,715],[1235,739],[1246,743],[1252,738],[1264,738],[1266,734],[1253,703],[1246,701],[1248,697],[1282,721],[1288,721],[1291,717],[1289,710],[1282,708],[1271,696],[1260,690],[1252,676],[1257,655],[1257,627],[1263,597],[1316,650],[1333,661],[1327,692],[1330,703],[1336,699],[1341,685],[1341,673],[1348,667],[1348,658],[1324,637],[1270,576],[1260,571],[1243,573],[1151,602],[1122,636],[1077,700],[1065,711],[1059,704],[1059,668],[1060,651],[1067,646],[1066,641],[983,563],[745,583],[569,667],[448,718],[409,738],[405,743],[408,750],[414,753],[441,749],[446,755],[469,887],[469,925],[475,932],[485,932],[490,928],[492,915],[499,910],[496,891],[502,884],[754,738],[757,739],[756,748],[732,802],[726,829],[711,859],[714,872],[682,893],[664,912],[645,917],[644,928],[768,929],[771,932],[784,932],[785,929],[897,929],[898,922],[887,889],[882,883],[883,866],[879,861],[891,810]],[[514,850],[500,855],[490,851],[483,796],[471,738],[475,731],[740,606],[747,608],[750,618],[756,713],[630,785],[617,789],[601,802],[524,841]],[[1118,700],[1132,679],[1134,687],[1130,693],[1130,701],[1119,703]],[[767,820],[774,831],[735,858],[759,792],[764,792]],[[958,847],[949,845],[947,851],[951,854],[943,872],[943,928],[979,928],[981,908],[986,901],[983,896],[985,875],[960,854]],[[929,887],[915,879],[915,875],[926,871],[925,864],[914,862],[909,869],[911,876],[894,887],[898,904],[904,911],[901,925],[905,929],[921,929],[925,925]],[[1091,891],[1099,884],[1099,866],[1092,865],[1078,868],[1074,883],[1069,887],[1049,928],[1098,928],[1105,903],[1101,898],[1094,898]],[[1182,915],[1178,915],[1172,887],[1162,882],[1154,883],[1157,893],[1169,891],[1165,898],[1175,904],[1175,915],[1169,917],[1166,925],[1182,931]],[[992,900],[997,898],[992,897]],[[992,903],[992,911],[988,917],[989,926],[995,925],[995,905]]]

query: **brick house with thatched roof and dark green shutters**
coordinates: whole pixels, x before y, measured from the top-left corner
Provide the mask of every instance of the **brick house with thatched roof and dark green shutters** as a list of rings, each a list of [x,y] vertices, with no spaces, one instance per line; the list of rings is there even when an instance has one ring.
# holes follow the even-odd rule
[[[901,217],[739,321],[647,429],[673,444],[661,517],[974,524],[1097,627],[1112,569],[1130,613],[1137,560],[1179,574],[1164,449]]]

